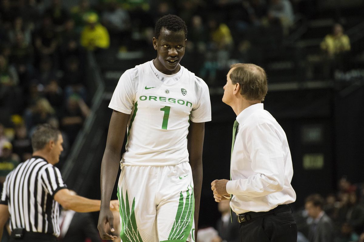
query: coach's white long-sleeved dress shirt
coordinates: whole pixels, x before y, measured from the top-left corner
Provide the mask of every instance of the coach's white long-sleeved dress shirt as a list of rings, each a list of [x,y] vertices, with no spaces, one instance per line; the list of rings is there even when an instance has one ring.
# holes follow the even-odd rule
[[[232,210],[236,214],[265,212],[296,201],[292,158],[282,127],[262,103],[245,108],[236,120],[232,179],[226,184],[226,191],[233,194]]]

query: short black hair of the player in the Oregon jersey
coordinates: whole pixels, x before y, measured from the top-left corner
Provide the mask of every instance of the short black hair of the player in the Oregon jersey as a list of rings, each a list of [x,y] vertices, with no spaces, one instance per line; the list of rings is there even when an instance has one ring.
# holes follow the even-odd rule
[[[165,15],[161,17],[154,28],[154,37],[158,40],[159,35],[161,34],[161,29],[166,28],[168,30],[178,32],[179,30],[183,30],[185,32],[185,38],[187,38],[187,25],[185,21],[183,21],[177,15]]]

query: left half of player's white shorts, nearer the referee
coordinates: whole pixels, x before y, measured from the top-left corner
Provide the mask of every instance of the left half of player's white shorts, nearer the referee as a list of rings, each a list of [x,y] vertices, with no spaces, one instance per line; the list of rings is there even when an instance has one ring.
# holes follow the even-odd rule
[[[118,183],[120,237],[123,242],[158,241],[155,233],[157,186],[153,167],[123,167]]]

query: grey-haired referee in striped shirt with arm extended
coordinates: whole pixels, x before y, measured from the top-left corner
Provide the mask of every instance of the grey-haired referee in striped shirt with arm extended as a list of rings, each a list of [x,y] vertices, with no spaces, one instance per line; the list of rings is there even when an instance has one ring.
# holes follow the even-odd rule
[[[11,242],[56,241],[60,234],[59,204],[76,212],[100,210],[100,200],[73,195],[59,169],[63,151],[59,130],[40,125],[32,135],[33,156],[6,177],[0,197],[0,240],[10,217]],[[118,201],[110,203],[111,209]]]

